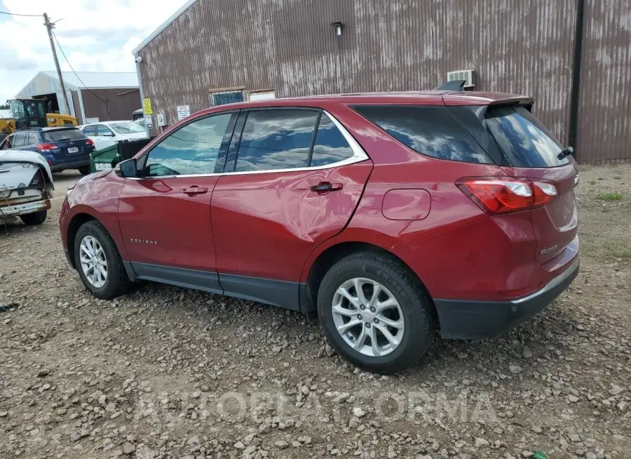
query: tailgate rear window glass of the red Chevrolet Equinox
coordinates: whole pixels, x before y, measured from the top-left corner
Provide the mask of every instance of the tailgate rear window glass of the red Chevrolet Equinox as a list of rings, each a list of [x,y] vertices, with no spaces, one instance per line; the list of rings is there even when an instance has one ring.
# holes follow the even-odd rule
[[[525,107],[489,107],[486,119],[511,166],[554,167],[569,163],[569,158],[557,158],[562,145]]]

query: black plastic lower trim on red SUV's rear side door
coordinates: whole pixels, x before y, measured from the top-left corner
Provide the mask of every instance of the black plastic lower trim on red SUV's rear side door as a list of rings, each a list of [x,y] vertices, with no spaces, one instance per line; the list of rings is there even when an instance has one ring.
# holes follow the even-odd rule
[[[224,288],[224,295],[300,310],[299,282],[219,274],[219,284]]]

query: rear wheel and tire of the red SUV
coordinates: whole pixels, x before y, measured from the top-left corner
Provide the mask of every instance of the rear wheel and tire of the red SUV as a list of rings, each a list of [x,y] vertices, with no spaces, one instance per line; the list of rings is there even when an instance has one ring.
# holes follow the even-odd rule
[[[369,301],[372,298],[369,298],[368,294],[371,293],[372,297],[374,290],[370,292],[370,289],[375,287],[370,282],[380,284],[381,293],[379,293],[378,301],[381,301],[382,305],[391,304],[391,298],[398,305],[388,306],[388,309],[384,309],[384,312],[381,313],[387,315],[377,313],[378,315],[373,316],[372,319],[370,317],[366,319],[365,315],[362,316],[368,308],[364,311],[357,310],[358,314],[348,317],[348,322],[345,324],[349,324],[351,320],[354,321],[355,319],[360,321],[360,324],[349,328],[344,335],[345,338],[337,329],[340,325],[339,317],[342,315],[347,317],[346,311],[353,310],[353,306],[348,297],[344,297],[346,301],[342,299],[339,305],[346,306],[348,309],[344,308],[345,314],[334,314],[333,302],[343,298],[342,295],[336,296],[339,288],[358,285],[352,279],[363,279],[358,280],[358,282],[362,291],[367,289],[364,296],[369,305],[373,303]],[[362,284],[364,281],[366,283]],[[351,287],[349,292],[355,300],[359,298],[355,287]],[[379,303],[376,305],[378,306]],[[436,331],[433,305],[419,279],[416,279],[414,274],[409,272],[398,260],[378,253],[355,253],[339,260],[330,268],[318,290],[318,317],[327,339],[338,354],[353,365],[373,373],[397,373],[414,364],[427,352]],[[381,317],[381,321],[378,320],[379,317]],[[386,321],[390,321],[391,324],[396,323],[400,328],[401,319],[403,321],[402,329],[391,328],[385,324]],[[393,345],[392,341],[386,339],[386,334],[381,333],[384,328],[393,338],[396,338],[398,345]],[[368,335],[365,346],[368,346],[368,340],[370,340],[369,347],[372,347],[372,336],[377,338],[378,349],[379,343],[385,343],[385,347],[381,347],[381,352],[374,352],[374,347],[372,349],[362,347],[358,351],[351,346],[348,340],[354,341],[358,345],[358,338],[360,338],[362,329],[367,333],[376,333],[376,335]],[[353,333],[353,335],[349,335],[349,333]],[[372,352],[372,354],[367,355],[366,352]]]

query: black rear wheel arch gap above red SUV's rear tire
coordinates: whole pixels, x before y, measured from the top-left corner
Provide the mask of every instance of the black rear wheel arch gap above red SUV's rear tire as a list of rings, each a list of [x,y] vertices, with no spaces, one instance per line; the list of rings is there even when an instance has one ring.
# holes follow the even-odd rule
[[[402,267],[405,267],[409,274],[418,281],[419,288],[423,289],[423,292],[426,294],[426,297],[430,300],[431,305],[435,310],[432,297],[425,284],[423,284],[423,280],[420,279],[416,272],[414,272],[412,268],[410,268],[401,258],[391,251],[388,251],[386,248],[377,246],[376,244],[371,244],[365,241],[343,241],[325,248],[325,250],[319,253],[315,260],[313,260],[311,266],[308,267],[306,278],[300,285],[300,306],[303,312],[311,313],[317,310],[318,288],[320,287],[320,283],[330,267],[342,258],[358,252],[379,253],[399,262]]]

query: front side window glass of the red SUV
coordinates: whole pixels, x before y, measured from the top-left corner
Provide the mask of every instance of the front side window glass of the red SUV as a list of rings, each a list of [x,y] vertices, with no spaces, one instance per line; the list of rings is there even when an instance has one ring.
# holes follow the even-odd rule
[[[145,177],[215,173],[231,113],[193,121],[179,128],[151,149],[144,165]]]

